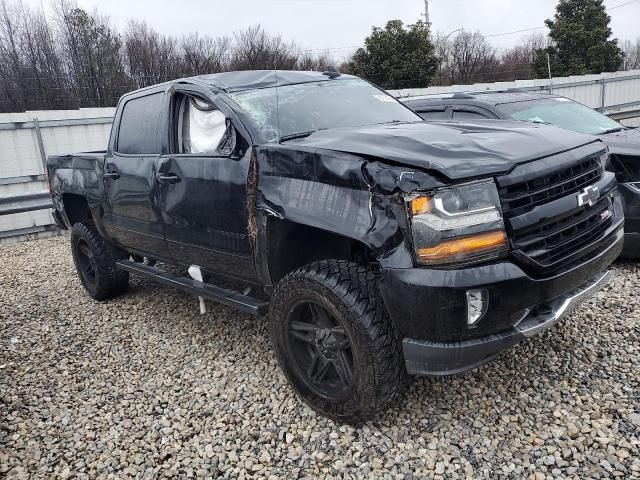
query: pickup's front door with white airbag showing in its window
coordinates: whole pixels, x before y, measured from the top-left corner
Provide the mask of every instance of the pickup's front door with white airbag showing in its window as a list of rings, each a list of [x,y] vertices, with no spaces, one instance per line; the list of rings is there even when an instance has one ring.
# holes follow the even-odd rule
[[[174,261],[255,280],[248,235],[248,142],[212,103],[174,95],[175,153],[158,167],[165,236]]]

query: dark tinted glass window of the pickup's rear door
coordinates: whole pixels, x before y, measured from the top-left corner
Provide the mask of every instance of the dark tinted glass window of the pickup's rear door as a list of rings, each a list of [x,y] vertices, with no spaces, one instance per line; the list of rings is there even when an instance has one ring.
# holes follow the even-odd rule
[[[160,153],[158,126],[164,92],[134,98],[124,105],[118,130],[119,153]]]

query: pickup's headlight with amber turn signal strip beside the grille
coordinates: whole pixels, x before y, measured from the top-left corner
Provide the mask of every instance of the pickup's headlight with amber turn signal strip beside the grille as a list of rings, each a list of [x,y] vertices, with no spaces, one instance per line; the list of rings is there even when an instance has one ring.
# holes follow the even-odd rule
[[[407,198],[418,263],[483,262],[507,253],[500,200],[492,180]]]

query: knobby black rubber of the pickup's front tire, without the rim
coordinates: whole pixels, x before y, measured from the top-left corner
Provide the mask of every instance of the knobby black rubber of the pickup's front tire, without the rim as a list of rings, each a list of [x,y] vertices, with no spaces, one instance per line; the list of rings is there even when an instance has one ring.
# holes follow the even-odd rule
[[[288,348],[288,318],[305,299],[320,304],[351,340],[353,387],[341,399],[321,396]],[[355,263],[325,260],[286,275],[271,298],[273,348],[289,383],[314,410],[339,422],[359,424],[387,407],[407,383],[402,343],[378,289],[378,276]]]

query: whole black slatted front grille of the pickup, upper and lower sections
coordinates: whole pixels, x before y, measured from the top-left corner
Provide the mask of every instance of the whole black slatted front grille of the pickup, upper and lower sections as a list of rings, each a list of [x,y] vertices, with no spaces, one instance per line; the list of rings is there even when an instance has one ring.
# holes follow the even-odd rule
[[[590,157],[551,174],[529,172],[521,182],[500,188],[502,213],[514,255],[523,268],[533,274],[553,274],[596,248],[589,247],[597,244],[613,223],[612,200],[603,194],[591,207],[578,206],[577,195],[598,183],[603,175],[599,158]],[[566,202],[551,205],[563,197],[575,199],[571,203],[573,209],[569,207],[567,211]],[[535,213],[529,214],[534,209]],[[513,229],[509,221],[515,217],[518,229]],[[532,223],[527,222],[528,218]]]

